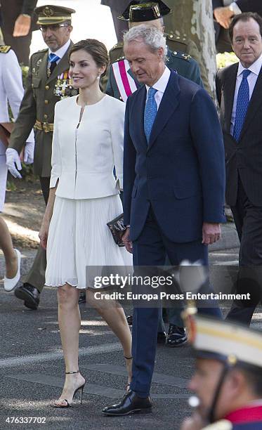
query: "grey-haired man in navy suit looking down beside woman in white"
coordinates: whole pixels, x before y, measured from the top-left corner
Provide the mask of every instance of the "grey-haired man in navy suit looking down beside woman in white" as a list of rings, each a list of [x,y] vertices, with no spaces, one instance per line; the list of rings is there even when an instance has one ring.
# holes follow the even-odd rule
[[[156,27],[129,30],[124,52],[143,84],[126,103],[126,249],[137,267],[164,266],[166,254],[175,266],[184,259],[207,266],[207,245],[219,239],[219,223],[225,221],[223,138],[216,108],[204,89],[166,67],[166,42]],[[105,408],[105,415],[152,409],[159,308],[138,306],[131,390],[121,403]],[[218,308],[205,311],[221,316]]]

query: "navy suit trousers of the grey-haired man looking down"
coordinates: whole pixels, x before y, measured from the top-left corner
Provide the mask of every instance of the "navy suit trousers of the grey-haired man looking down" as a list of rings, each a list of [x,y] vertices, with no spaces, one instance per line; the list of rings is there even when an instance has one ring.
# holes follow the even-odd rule
[[[150,208],[142,233],[133,242],[133,266],[164,266],[166,254],[171,265],[177,266],[182,260],[201,260],[208,264],[208,247],[201,240],[188,243],[171,242],[163,235]],[[147,397],[155,363],[157,347],[157,326],[161,307],[142,308],[135,306],[133,311],[132,356],[133,376],[131,389],[138,396]],[[202,313],[221,317],[219,308],[203,308]]]

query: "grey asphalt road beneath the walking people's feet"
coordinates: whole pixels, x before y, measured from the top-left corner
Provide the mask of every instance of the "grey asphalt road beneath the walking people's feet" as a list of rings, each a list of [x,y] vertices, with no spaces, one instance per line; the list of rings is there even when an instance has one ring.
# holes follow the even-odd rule
[[[219,275],[231,279],[228,273],[236,271],[235,261],[237,249],[212,253],[211,278],[216,282]],[[261,316],[258,309],[254,326],[261,327]],[[86,378],[84,403],[80,405],[77,399],[73,408],[55,409],[50,404],[60,396],[64,378],[56,292],[46,287],[39,310],[30,311],[0,285],[0,429],[178,430],[183,417],[190,414],[187,384],[194,364],[190,346],[158,346],[152,414],[104,417],[102,408],[124,394],[122,349],[93,309],[81,305],[81,317],[79,368]],[[24,424],[12,424],[12,417],[21,417],[20,421],[24,417]],[[32,417],[31,423],[25,424],[25,417]]]

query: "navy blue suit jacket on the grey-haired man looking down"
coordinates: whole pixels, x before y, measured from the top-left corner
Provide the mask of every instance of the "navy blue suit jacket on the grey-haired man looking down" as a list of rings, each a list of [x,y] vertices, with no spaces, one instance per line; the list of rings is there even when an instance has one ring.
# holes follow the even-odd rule
[[[197,240],[203,221],[225,221],[223,137],[216,109],[204,89],[171,72],[148,145],[145,98],[141,86],[126,103],[124,223],[131,224],[131,240],[136,240],[151,203],[170,240]]]

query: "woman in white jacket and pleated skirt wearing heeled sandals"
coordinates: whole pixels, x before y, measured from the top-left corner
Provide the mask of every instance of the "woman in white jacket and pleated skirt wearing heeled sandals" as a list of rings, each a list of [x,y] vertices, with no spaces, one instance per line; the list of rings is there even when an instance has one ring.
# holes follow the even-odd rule
[[[89,266],[131,266],[107,222],[122,213],[124,103],[100,91],[108,62],[95,39],[74,44],[70,77],[79,96],[55,105],[50,195],[39,233],[46,247],[46,285],[58,287],[58,320],[65,358],[65,385],[55,407],[67,408],[85,380],[78,367],[78,299],[81,289],[122,343],[131,381],[131,333],[123,308],[94,299],[87,285]],[[115,168],[116,178],[113,175]]]

